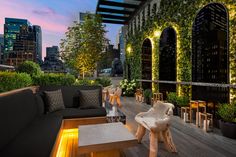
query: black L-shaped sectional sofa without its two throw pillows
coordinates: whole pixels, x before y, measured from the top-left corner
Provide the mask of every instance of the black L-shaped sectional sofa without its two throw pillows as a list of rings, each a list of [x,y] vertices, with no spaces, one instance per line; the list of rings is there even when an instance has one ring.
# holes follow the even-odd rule
[[[61,89],[65,109],[48,113],[43,91]],[[99,89],[99,108],[79,109],[78,90]],[[48,157],[66,118],[103,117],[100,86],[40,87],[36,93],[22,90],[0,96],[0,156]]]

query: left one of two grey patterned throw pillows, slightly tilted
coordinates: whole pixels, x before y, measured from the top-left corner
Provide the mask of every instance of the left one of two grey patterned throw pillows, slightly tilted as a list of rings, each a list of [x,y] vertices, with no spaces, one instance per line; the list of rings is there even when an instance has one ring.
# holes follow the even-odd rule
[[[49,112],[65,109],[65,105],[63,102],[63,97],[62,97],[62,93],[60,89],[56,91],[45,91],[44,93],[46,96]]]

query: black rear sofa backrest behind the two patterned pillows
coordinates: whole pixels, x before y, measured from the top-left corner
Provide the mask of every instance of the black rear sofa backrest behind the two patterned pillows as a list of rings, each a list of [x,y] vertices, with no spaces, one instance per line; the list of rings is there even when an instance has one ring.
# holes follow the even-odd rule
[[[92,90],[99,89],[99,105],[102,106],[102,87],[101,86],[40,86],[38,92],[42,93],[43,91],[62,91],[64,105],[67,108],[76,107],[74,101],[78,101],[76,97],[79,94],[79,90]]]

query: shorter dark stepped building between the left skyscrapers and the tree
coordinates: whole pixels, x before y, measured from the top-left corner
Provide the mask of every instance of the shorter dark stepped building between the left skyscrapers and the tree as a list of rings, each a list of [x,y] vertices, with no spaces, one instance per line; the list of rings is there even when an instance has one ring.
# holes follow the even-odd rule
[[[65,68],[59,57],[58,46],[46,48],[46,57],[44,57],[44,63],[41,68],[46,72],[65,72]]]

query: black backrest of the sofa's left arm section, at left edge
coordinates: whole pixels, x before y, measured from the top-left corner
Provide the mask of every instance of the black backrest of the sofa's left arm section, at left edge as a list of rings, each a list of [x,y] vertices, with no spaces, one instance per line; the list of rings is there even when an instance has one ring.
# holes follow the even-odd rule
[[[0,95],[0,151],[35,119],[36,113],[32,90]]]

